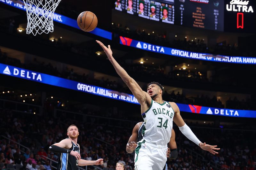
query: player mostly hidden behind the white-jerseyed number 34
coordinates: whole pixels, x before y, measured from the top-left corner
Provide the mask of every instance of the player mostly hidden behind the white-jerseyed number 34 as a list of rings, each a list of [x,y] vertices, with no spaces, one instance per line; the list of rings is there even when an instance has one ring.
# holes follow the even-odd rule
[[[129,141],[126,144],[127,153],[132,153],[137,147],[137,142],[143,138],[142,129],[145,126],[144,124],[145,122],[139,122],[134,126],[132,130],[132,136],[129,138]],[[168,143],[168,150],[166,152],[166,157],[170,159],[176,159],[177,156],[178,156],[178,150],[177,150],[177,144],[175,142],[175,132],[172,129],[172,136],[170,138],[170,142]],[[167,164],[165,164],[163,170],[165,169],[167,169]]]

